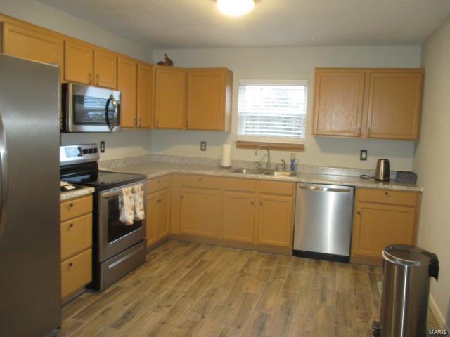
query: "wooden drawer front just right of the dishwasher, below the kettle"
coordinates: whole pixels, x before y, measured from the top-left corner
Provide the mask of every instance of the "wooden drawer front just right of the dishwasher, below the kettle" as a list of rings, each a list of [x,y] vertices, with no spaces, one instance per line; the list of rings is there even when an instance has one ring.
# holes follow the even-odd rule
[[[397,204],[406,206],[416,206],[417,204],[417,192],[359,188],[357,190],[356,198],[358,201],[379,202],[383,204]]]

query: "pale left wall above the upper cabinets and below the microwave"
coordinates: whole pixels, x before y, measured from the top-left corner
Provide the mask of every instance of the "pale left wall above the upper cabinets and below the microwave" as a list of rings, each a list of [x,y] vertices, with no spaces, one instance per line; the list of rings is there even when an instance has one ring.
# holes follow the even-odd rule
[[[52,29],[70,37],[124,53],[139,60],[151,62],[153,50],[133,41],[117,37],[115,34],[75,18],[68,13],[33,0],[0,0],[0,13]],[[61,136],[63,145],[98,143],[106,141],[106,152],[101,159],[115,159],[150,153],[151,131],[122,131],[120,133],[79,133]]]

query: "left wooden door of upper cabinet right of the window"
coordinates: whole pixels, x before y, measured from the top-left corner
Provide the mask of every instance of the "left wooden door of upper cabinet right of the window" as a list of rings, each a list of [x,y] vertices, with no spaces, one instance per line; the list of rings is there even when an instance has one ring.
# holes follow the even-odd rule
[[[361,136],[364,72],[316,71],[314,135]]]

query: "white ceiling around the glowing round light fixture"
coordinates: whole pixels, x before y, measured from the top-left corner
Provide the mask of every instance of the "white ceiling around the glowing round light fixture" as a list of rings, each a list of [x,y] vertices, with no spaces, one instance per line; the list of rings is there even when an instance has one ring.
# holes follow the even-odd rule
[[[449,0],[259,0],[240,18],[214,0],[37,0],[153,48],[421,44]]]

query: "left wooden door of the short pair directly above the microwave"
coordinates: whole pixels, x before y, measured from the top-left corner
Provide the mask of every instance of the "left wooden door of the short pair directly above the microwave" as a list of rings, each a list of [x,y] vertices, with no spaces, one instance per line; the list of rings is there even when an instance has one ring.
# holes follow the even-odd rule
[[[64,79],[94,84],[94,48],[81,42],[65,41]]]

